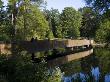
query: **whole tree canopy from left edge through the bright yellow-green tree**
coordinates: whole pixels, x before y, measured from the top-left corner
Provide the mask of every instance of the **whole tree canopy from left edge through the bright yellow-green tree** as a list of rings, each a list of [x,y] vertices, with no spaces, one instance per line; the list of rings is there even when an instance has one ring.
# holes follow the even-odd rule
[[[32,37],[44,39],[49,31],[43,13],[38,5],[32,4],[30,0],[9,0],[7,10],[0,13],[3,13],[0,15],[4,20],[4,23],[1,21],[2,36],[10,39],[12,36],[16,40],[30,40]]]

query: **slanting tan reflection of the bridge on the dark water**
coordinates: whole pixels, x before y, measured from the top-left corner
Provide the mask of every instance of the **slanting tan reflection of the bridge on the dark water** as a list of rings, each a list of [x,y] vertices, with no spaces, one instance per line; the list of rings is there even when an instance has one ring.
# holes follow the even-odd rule
[[[48,65],[49,65],[49,67],[60,66],[61,64],[65,64],[65,63],[68,63],[68,62],[76,60],[76,59],[84,58],[92,53],[93,53],[93,49],[90,49],[90,50],[83,51],[83,52],[65,55],[62,57],[58,57],[58,58],[49,60]]]

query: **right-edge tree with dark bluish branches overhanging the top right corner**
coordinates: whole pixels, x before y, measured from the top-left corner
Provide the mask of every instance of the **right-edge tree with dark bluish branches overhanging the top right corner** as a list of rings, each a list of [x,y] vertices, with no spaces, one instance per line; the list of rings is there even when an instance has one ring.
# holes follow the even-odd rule
[[[96,32],[96,41],[109,42],[110,37],[110,0],[85,0],[87,5],[102,15],[100,28]]]

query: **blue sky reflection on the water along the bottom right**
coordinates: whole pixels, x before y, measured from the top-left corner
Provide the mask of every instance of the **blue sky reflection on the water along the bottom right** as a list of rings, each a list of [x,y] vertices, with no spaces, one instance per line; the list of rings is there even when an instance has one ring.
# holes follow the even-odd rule
[[[71,76],[63,76],[63,82],[110,82],[110,74],[106,74],[104,81],[100,80],[100,71],[99,67],[91,69],[92,77],[83,72],[73,74]]]

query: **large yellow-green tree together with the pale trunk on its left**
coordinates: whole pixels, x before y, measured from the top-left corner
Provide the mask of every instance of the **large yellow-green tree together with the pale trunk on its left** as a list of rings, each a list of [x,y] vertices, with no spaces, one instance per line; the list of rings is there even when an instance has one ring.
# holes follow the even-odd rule
[[[14,6],[14,4],[16,5]],[[38,9],[38,5],[33,4],[30,0],[21,0],[20,2],[10,0],[9,9],[16,39],[30,40],[32,37],[43,39],[46,36],[49,30],[48,22]]]

